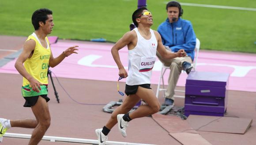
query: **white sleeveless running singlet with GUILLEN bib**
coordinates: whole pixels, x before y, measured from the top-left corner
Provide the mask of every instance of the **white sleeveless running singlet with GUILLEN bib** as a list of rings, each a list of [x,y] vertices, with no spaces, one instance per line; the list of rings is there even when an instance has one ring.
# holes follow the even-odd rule
[[[138,41],[134,49],[128,50],[129,65],[126,84],[130,86],[150,83],[158,44],[152,29],[150,29],[149,40],[140,35],[138,28],[133,30],[137,34]]]

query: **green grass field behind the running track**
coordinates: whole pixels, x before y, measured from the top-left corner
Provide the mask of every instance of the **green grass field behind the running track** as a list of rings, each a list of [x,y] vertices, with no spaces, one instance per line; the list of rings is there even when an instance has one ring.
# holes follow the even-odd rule
[[[147,0],[157,30],[165,21],[168,0]],[[256,8],[255,0],[180,0],[181,3]],[[32,13],[53,11],[53,36],[62,39],[105,38],[116,42],[129,31],[137,0],[0,0],[0,35],[28,36],[34,31]],[[183,6],[183,18],[192,22],[200,49],[256,53],[256,11]]]

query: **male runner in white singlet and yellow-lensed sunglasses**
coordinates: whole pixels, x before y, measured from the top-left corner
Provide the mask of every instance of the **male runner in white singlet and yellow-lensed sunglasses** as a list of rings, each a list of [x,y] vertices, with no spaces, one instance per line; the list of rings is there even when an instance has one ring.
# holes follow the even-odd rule
[[[119,69],[119,76],[126,78],[125,94],[127,98],[112,113],[111,118],[103,128],[96,129],[99,145],[105,145],[109,131],[118,123],[118,128],[126,137],[128,122],[139,117],[152,115],[159,111],[160,103],[150,88],[152,69],[156,59],[156,50],[165,59],[184,57],[184,50],[176,53],[166,51],[161,36],[157,31],[150,29],[153,25],[151,12],[146,7],[139,8],[132,14],[132,21],[137,28],[127,32],[113,46],[111,53]],[[128,46],[129,65],[128,73],[124,69],[118,51]],[[128,113],[143,99],[147,105],[140,105],[134,112]]]

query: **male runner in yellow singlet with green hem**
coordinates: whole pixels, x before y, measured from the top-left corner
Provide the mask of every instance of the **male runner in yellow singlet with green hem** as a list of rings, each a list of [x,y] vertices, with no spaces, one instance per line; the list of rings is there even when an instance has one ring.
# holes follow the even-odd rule
[[[24,43],[23,51],[15,62],[15,68],[23,76],[22,95],[24,107],[31,107],[36,119],[6,120],[0,118],[0,142],[10,127],[35,128],[28,145],[37,145],[50,126],[50,112],[47,102],[48,66],[55,67],[67,56],[77,53],[73,46],[53,58],[47,35],[53,30],[53,12],[39,9],[32,15],[35,32]]]

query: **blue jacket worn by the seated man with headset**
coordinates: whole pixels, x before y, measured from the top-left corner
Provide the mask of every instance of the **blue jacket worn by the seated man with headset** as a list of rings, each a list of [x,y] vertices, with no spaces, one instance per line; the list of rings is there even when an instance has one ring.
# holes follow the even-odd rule
[[[162,43],[169,46],[173,52],[184,49],[188,56],[194,60],[196,47],[196,34],[191,22],[179,18],[177,22],[170,23],[169,18],[158,26],[158,33]]]

